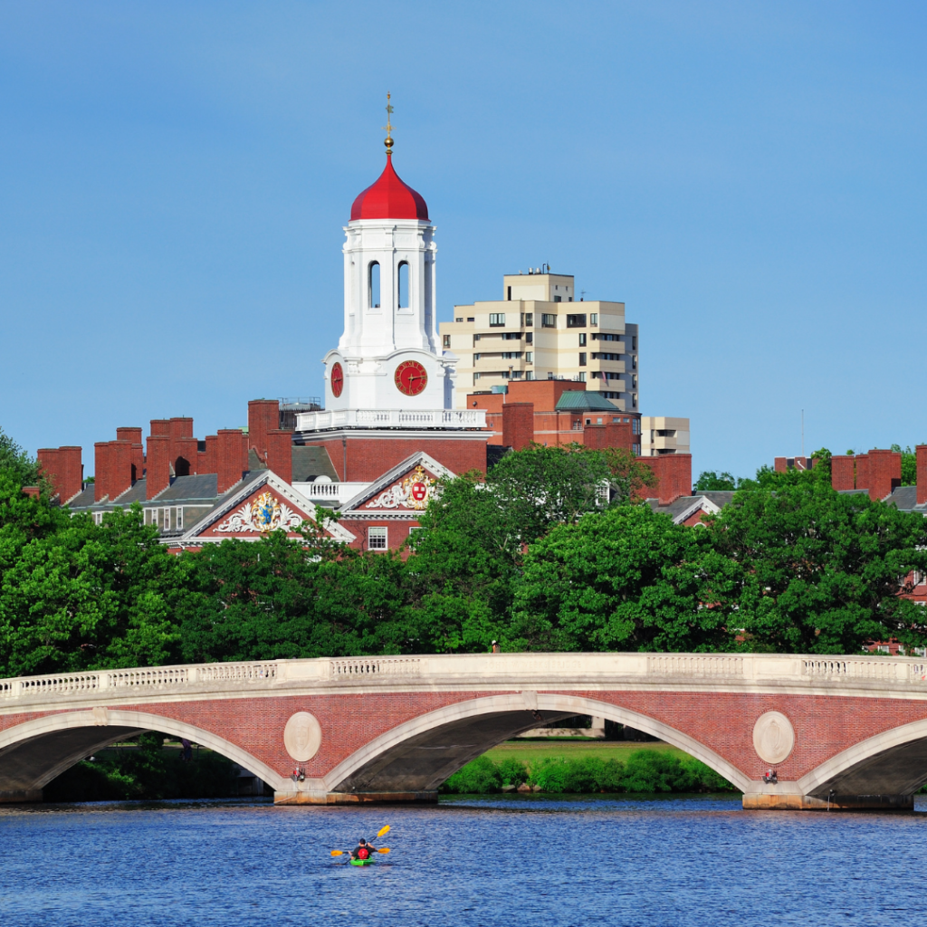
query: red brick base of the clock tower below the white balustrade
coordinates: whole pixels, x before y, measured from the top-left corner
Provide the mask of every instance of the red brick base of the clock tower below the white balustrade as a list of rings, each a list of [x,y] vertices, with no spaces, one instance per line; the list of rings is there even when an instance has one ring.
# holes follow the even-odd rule
[[[463,439],[448,439],[440,433],[434,437],[423,432],[415,438],[348,438],[348,475],[344,473],[345,450],[341,438],[309,441],[312,447],[328,451],[338,478],[345,482],[367,482],[383,476],[417,451],[425,451],[452,473],[481,470],[486,473],[486,432],[466,433]]]

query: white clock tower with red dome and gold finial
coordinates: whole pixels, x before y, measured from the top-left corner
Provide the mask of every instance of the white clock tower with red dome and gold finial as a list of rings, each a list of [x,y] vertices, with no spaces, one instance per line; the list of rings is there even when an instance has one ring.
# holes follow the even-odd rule
[[[387,111],[392,108],[387,106]],[[325,409],[437,411],[453,405],[457,358],[438,347],[435,226],[387,166],[345,226],[345,330],[324,357]]]

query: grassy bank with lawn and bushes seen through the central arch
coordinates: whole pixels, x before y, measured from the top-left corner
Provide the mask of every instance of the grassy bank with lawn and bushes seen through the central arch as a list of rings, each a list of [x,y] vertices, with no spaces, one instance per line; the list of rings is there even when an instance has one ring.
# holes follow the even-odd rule
[[[736,791],[667,743],[509,741],[455,772],[441,792],[491,794],[518,787],[552,794]]]

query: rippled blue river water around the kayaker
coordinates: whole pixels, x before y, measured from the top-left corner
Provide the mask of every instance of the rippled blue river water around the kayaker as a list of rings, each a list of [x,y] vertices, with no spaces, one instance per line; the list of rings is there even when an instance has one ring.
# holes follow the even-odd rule
[[[739,799],[454,798],[0,807],[0,923],[927,923],[927,805],[746,812]],[[392,831],[374,866],[329,851]]]

